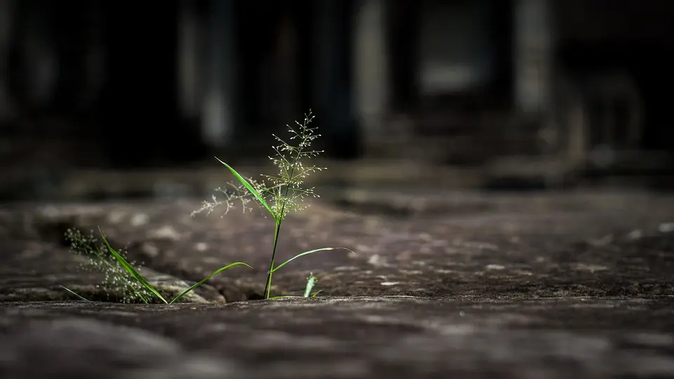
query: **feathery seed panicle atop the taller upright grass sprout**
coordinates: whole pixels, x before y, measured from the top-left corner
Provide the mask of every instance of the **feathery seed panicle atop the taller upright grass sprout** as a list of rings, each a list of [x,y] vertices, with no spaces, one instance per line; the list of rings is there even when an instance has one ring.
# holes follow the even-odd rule
[[[303,164],[302,159],[311,159],[318,157],[323,150],[311,149],[312,142],[319,138],[320,134],[315,134],[317,128],[310,128],[309,124],[314,119],[312,112],[305,114],[302,124],[295,121],[297,126],[293,128],[288,126],[288,131],[291,134],[289,140],[297,140],[296,145],[291,145],[278,135],[273,135],[278,145],[272,146],[276,152],[274,157],[269,157],[274,166],[279,169],[277,175],[262,175],[266,179],[265,182],[258,182],[251,178],[246,178],[251,185],[262,195],[262,197],[270,203],[272,211],[275,213],[278,220],[283,220],[285,216],[291,211],[301,211],[308,205],[303,204],[306,197],[319,197],[314,192],[314,187],[302,187],[302,184],[308,176],[315,171],[322,171],[324,167],[307,166]],[[225,214],[230,210],[236,208],[235,204],[240,203],[242,211],[249,210],[250,201],[254,201],[253,194],[249,192],[243,185],[229,184],[227,189],[222,187],[216,189],[216,192],[221,195],[218,199],[216,194],[213,194],[211,201],[204,201],[201,208],[192,212],[192,215],[206,212],[211,213],[218,206],[225,207]],[[260,204],[258,204],[260,205]]]

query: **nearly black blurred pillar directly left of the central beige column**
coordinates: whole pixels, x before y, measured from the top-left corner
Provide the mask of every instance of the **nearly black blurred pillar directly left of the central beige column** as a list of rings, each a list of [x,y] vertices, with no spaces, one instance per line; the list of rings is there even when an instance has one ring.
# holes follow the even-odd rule
[[[361,131],[355,119],[350,78],[352,44],[349,39],[348,1],[315,1],[313,33],[314,77],[312,104],[321,134],[328,142],[327,155],[352,159],[361,149]]]

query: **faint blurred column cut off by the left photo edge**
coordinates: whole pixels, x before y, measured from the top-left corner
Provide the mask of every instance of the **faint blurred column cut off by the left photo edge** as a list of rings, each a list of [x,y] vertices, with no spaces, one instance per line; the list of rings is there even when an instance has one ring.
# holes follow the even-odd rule
[[[14,1],[0,0],[0,121],[11,117],[9,51],[12,43]]]

